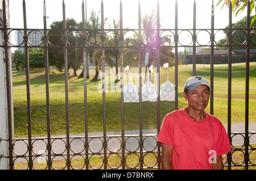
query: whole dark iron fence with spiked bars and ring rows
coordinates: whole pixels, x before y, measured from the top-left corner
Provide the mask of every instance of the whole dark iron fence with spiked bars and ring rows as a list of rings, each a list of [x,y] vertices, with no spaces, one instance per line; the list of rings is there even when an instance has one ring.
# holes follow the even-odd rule
[[[173,48],[174,49],[174,68],[175,68],[175,109],[178,109],[178,65],[179,65],[179,57],[178,57],[178,48],[180,47],[192,47],[193,48],[193,75],[196,75],[196,47],[209,47],[210,48],[210,86],[212,87],[212,92],[210,94],[210,113],[213,114],[213,99],[214,99],[214,48],[215,47],[228,47],[228,128],[227,133],[232,142],[232,139],[236,136],[241,136],[243,138],[243,144],[240,148],[232,146],[232,152],[226,155],[224,166],[228,167],[228,169],[232,169],[233,166],[243,166],[245,169],[249,169],[249,166],[255,166],[255,161],[250,159],[250,153],[255,152],[255,147],[250,144],[250,137],[254,136],[254,132],[249,132],[249,57],[250,57],[250,35],[255,31],[255,29],[250,28],[250,2],[248,1],[249,10],[247,11],[247,27],[244,29],[240,29],[245,33],[246,41],[241,45],[246,49],[246,87],[245,87],[245,131],[241,133],[233,133],[231,132],[231,111],[232,111],[232,103],[231,103],[231,93],[232,93],[232,47],[234,46],[234,42],[232,40],[232,33],[236,30],[232,28],[232,9],[230,6],[229,9],[229,28],[228,29],[214,29],[214,5],[212,6],[212,25],[211,28],[208,29],[196,29],[196,3],[193,7],[194,9],[194,17],[193,17],[193,28],[181,30],[177,27],[177,2],[175,5],[175,28],[174,29],[162,29],[160,28],[160,20],[159,20],[159,3],[156,7],[156,28],[152,31],[152,35],[154,35],[154,43],[148,45],[143,41],[143,36],[146,35],[145,32],[148,30],[144,30],[141,26],[142,24],[142,16],[141,16],[141,5],[138,5],[138,29],[123,29],[123,21],[122,21],[122,2],[120,3],[120,24],[118,29],[105,29],[104,27],[104,5],[101,5],[101,28],[98,30],[89,30],[85,28],[85,9],[84,2],[82,3],[82,28],[77,30],[68,30],[67,23],[65,18],[65,4],[63,2],[63,28],[61,30],[52,30],[47,29],[47,18],[46,18],[46,9],[44,9],[44,28],[42,30],[38,29],[28,29],[26,24],[26,2],[23,1],[23,16],[24,16],[24,28],[23,29],[15,29],[8,27],[6,24],[6,1],[3,1],[3,28],[1,30],[4,33],[5,44],[1,47],[5,52],[9,51],[11,47],[22,47],[24,48],[25,57],[26,57],[26,85],[27,85],[27,129],[28,135],[27,138],[14,138],[13,131],[13,121],[11,120],[11,114],[13,110],[11,109],[11,77],[7,76],[7,98],[8,98],[8,127],[9,127],[9,137],[7,139],[1,138],[1,141],[7,141],[9,143],[9,155],[1,155],[1,157],[7,157],[9,159],[9,168],[17,169],[15,167],[18,162],[25,162],[27,164],[26,169],[37,169],[38,163],[44,163],[44,169],[160,169],[160,156],[161,150],[160,145],[156,142],[156,138],[160,131],[160,96],[157,96],[155,101],[157,102],[157,115],[156,115],[156,131],[146,132],[142,128],[143,123],[143,96],[142,96],[142,55],[143,48],[151,47],[156,50],[155,60],[156,70],[160,72],[160,49],[163,47]],[[44,8],[46,7],[44,2]],[[20,45],[13,45],[10,42],[9,35],[13,31],[19,31],[23,35],[23,42]],[[32,45],[30,43],[30,32],[40,31],[42,32],[42,44]],[[61,35],[61,43],[59,45],[53,45],[49,41],[49,35],[51,32],[57,32]],[[80,36],[80,44],[73,45],[69,39],[67,32],[74,31],[79,33]],[[214,39],[216,32],[224,31],[228,34],[228,41],[225,44],[218,44],[218,42]],[[238,30],[237,30],[238,31]],[[94,32],[97,36],[98,42],[97,44],[92,44],[87,41],[88,36],[91,36]],[[106,36],[109,32],[112,32],[113,35],[119,36],[119,42],[117,44],[110,45],[107,42]],[[133,44],[127,43],[125,34],[127,32],[132,32]],[[168,32],[170,41],[164,42],[163,35]],[[183,32],[188,32],[192,41],[188,45],[183,45],[179,39]],[[200,32],[207,32],[209,34],[209,42],[207,44],[200,44],[197,39],[197,35]],[[46,75],[46,109],[47,109],[47,136],[46,137],[32,137],[31,133],[31,95],[30,95],[30,60],[28,56],[28,48],[44,48],[44,57],[45,57],[45,75]],[[73,136],[70,134],[69,128],[69,91],[68,91],[68,48],[80,48],[82,52],[82,60],[83,60],[83,72],[84,77],[87,75],[87,67],[86,63],[86,51],[89,48],[98,48],[101,50],[101,58],[102,58],[102,117],[103,117],[103,131],[101,136],[95,136],[88,132],[88,105],[87,105],[87,82],[86,78],[84,78],[84,126],[85,131],[84,134],[80,136]],[[118,48],[119,49],[119,66],[121,69],[121,131],[118,134],[113,134],[112,136],[107,135],[106,125],[108,124],[106,121],[106,94],[105,94],[105,84],[106,84],[106,74],[105,74],[105,50],[108,48]],[[51,48],[61,48],[63,50],[63,58],[64,58],[64,70],[65,70],[65,123],[66,123],[66,135],[65,136],[52,136],[51,135],[51,120],[50,120],[50,99],[49,99],[49,60],[48,60],[48,50]],[[138,88],[138,104],[139,104],[139,130],[136,133],[129,133],[125,131],[125,119],[124,119],[124,104],[125,104],[125,96],[124,96],[124,81],[123,81],[123,55],[125,48],[133,48],[138,54],[138,73],[139,73],[139,88]],[[6,62],[6,75],[9,75],[9,68],[11,57],[8,53],[5,53],[5,62]],[[160,92],[160,81],[158,75],[158,81],[156,81],[156,92]],[[158,94],[159,95],[159,94]],[[37,148],[40,145],[39,151]],[[98,146],[100,145],[100,146]],[[18,149],[19,148],[19,149]],[[23,149],[21,149],[23,148]],[[43,151],[42,151],[43,148]],[[243,155],[243,160],[241,163],[236,163],[233,161],[232,155],[236,153],[236,151],[240,151]],[[117,162],[112,163],[111,159],[115,157]],[[75,161],[80,159],[81,165],[77,166]],[[64,161],[63,161],[64,160]],[[97,160],[97,161],[95,161]],[[150,161],[148,161],[150,160]],[[62,165],[59,166],[56,164],[56,161],[63,161]],[[95,162],[95,164],[94,164]],[[40,167],[42,169],[42,167]]]

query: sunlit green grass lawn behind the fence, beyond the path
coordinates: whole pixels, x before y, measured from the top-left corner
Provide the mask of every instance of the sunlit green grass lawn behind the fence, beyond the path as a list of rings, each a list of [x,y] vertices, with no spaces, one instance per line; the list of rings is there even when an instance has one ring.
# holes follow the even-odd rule
[[[106,73],[110,75],[110,69]],[[138,68],[131,69],[138,72]],[[144,68],[142,70],[144,72]],[[49,74],[49,100],[51,110],[51,134],[65,134],[65,81],[64,74],[51,69]],[[80,74],[81,70],[78,74]],[[154,71],[156,72],[156,70]],[[128,71],[125,71],[128,73]],[[72,74],[72,73],[71,73]],[[196,74],[210,79],[209,65],[197,65]],[[90,77],[94,70],[90,69]],[[169,80],[175,83],[174,68],[170,69]],[[185,81],[192,77],[192,66],[179,66],[179,108],[187,105],[182,96]],[[249,121],[256,122],[256,63],[250,63],[250,99]],[[69,77],[69,127],[70,133],[84,133],[84,80],[78,77]],[[135,84],[136,84],[135,79]],[[167,71],[161,69],[160,85],[167,81]],[[114,82],[111,77],[110,82]],[[144,83],[144,78],[142,78]],[[102,93],[97,87],[100,81],[87,80],[88,99],[88,131],[103,131]],[[47,135],[46,116],[46,85],[43,71],[30,72],[31,116],[32,136]],[[15,137],[27,137],[27,93],[25,71],[13,71],[14,94],[14,134]],[[143,129],[155,129],[157,127],[156,102],[142,103]],[[175,110],[174,102],[160,102],[160,119]],[[209,106],[207,107],[209,112]],[[125,130],[139,129],[139,103],[125,103]],[[228,66],[214,65],[214,116],[217,116],[223,124],[227,124],[228,117]],[[245,64],[232,66],[232,123],[244,123],[245,121]],[[106,131],[121,131],[121,94],[119,92],[106,92]]]

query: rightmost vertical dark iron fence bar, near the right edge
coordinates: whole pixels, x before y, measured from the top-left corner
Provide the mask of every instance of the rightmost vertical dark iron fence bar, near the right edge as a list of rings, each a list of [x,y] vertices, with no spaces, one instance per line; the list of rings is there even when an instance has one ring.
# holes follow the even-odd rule
[[[250,73],[250,1],[247,2],[245,70],[245,170],[249,164],[249,73]]]

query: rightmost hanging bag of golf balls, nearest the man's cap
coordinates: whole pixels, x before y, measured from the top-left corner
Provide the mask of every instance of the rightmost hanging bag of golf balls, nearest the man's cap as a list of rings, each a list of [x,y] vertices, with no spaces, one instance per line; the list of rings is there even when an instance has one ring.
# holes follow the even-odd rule
[[[175,100],[175,87],[170,81],[160,87],[160,100]]]

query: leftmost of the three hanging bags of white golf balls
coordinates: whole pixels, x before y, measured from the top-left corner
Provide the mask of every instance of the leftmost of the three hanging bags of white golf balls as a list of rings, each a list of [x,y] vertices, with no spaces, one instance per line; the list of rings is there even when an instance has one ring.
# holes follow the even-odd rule
[[[124,102],[139,102],[138,87],[133,82],[123,87],[123,100]]]

